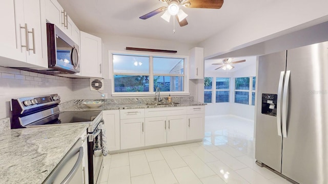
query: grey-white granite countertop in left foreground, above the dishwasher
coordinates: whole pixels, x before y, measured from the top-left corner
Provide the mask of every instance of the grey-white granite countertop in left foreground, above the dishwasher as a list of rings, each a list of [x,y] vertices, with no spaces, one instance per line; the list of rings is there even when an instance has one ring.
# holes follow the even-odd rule
[[[0,135],[0,181],[42,183],[88,125],[12,129]]]

